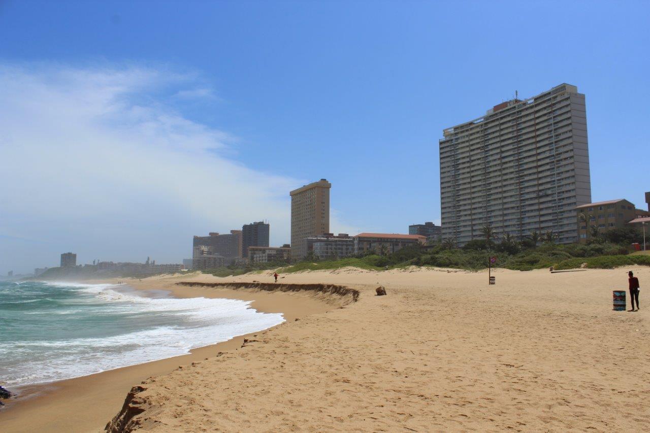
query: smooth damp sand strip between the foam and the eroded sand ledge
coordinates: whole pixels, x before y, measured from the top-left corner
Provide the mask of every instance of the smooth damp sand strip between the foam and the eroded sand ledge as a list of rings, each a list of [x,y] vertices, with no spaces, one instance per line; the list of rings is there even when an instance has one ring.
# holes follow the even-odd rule
[[[336,302],[328,304],[299,293],[272,293],[268,291],[233,290],[227,288],[206,289],[176,285],[178,281],[224,282],[223,278],[209,275],[190,274],[164,276],[144,279],[110,278],[107,280],[87,280],[83,283],[100,284],[125,283],[136,291],[168,291],[175,298],[226,298],[251,302],[250,308],[261,313],[282,313],[285,322],[295,321],[305,315],[323,313],[337,308]],[[274,326],[275,327],[275,326]],[[272,327],[272,328],[274,328]],[[0,409],[0,422],[3,428],[20,431],[101,431],[122,407],[129,389],[159,374],[169,373],[180,365],[188,365],[217,356],[219,352],[237,350],[250,339],[272,328],[237,335],[227,341],[190,350],[189,354],[164,358],[120,367],[99,373],[79,376],[55,382],[45,382],[11,388],[18,398],[4,400]],[[92,404],[88,404],[92,401]],[[80,408],[83,408],[80,411]]]

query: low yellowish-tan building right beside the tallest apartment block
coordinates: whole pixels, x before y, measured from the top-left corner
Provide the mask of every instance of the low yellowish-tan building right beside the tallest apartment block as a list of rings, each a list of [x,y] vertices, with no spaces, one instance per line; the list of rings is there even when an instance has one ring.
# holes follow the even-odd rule
[[[591,226],[596,226],[599,233],[613,228],[623,228],[634,218],[650,215],[643,209],[636,209],[634,203],[623,198],[608,202],[588,203],[576,208],[578,224],[578,242],[586,243],[591,237]]]

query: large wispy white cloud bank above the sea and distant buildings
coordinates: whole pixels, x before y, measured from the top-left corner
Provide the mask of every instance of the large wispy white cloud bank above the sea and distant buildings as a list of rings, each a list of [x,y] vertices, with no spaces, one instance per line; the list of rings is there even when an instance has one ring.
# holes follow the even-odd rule
[[[179,261],[192,234],[260,219],[272,244],[289,242],[288,192],[304,182],[228,159],[235,137],[157,97],[201,97],[194,81],[138,66],[0,66],[0,268],[56,265],[64,250]]]

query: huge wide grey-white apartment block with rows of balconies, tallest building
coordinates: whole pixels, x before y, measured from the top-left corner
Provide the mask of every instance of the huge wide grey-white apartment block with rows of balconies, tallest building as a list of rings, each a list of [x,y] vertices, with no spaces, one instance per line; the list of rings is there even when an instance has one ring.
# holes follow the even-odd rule
[[[443,238],[463,245],[489,224],[498,236],[552,231],[577,241],[575,208],[591,202],[584,94],[562,84],[495,105],[443,131]]]

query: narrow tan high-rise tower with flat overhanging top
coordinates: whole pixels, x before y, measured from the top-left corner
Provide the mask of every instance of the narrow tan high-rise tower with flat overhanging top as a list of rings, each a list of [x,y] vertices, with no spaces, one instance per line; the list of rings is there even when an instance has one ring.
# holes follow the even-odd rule
[[[307,255],[308,237],[330,232],[330,188],[327,179],[292,190],[291,195],[291,258]]]

